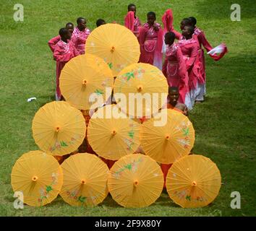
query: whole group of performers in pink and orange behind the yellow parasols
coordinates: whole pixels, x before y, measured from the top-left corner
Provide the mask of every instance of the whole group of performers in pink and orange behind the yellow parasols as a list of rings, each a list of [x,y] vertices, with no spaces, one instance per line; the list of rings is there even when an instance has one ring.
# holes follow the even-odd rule
[[[167,108],[188,115],[188,110],[192,110],[195,102],[200,103],[204,100],[206,93],[204,48],[209,52],[213,50],[213,47],[205,38],[204,32],[197,27],[195,17],[182,19],[181,32],[174,30],[174,17],[171,9],[163,14],[163,28],[155,21],[155,12],[148,12],[147,22],[142,25],[137,17],[135,4],[129,4],[127,15],[124,17],[124,26],[134,33],[140,43],[139,62],[157,66],[163,71],[169,86]],[[98,19],[96,22],[97,27],[104,24],[106,24],[104,19]],[[58,36],[48,41],[54,53],[54,60],[56,60],[56,100],[62,98],[59,89],[61,69],[70,59],[86,52],[85,43],[89,35],[90,30],[86,26],[86,19],[79,17],[76,27],[72,22],[68,22],[64,28],[59,30]],[[223,45],[219,55],[213,54],[210,57],[218,61],[226,52],[226,46]],[[85,111],[82,113],[88,126],[90,115]],[[141,118],[141,123],[144,120]],[[77,152],[95,154],[86,138]],[[141,147],[137,152],[143,153]],[[62,162],[66,157],[59,158],[59,162]],[[112,160],[101,159],[108,167],[114,164]],[[166,178],[169,167],[171,165],[161,165],[164,178]]]

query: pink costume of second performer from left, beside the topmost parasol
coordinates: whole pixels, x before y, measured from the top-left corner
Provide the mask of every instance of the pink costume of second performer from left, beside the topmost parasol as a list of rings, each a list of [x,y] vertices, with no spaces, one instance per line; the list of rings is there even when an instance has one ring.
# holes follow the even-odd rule
[[[74,28],[73,34],[72,34],[72,42],[74,43],[74,47],[77,49],[77,51],[80,54],[85,53],[85,42],[90,35],[90,30],[88,28],[85,28],[85,30],[79,30],[78,27]]]

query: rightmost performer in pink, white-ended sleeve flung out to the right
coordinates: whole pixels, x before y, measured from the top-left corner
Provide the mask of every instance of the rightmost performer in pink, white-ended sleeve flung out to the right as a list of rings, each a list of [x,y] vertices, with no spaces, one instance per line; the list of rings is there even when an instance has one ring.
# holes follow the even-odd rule
[[[197,86],[197,96],[195,98],[196,102],[202,102],[204,100],[204,95],[206,93],[206,88],[205,88],[205,82],[206,82],[206,75],[205,75],[205,54],[204,54],[204,49],[208,52],[210,50],[213,49],[213,47],[210,45],[210,43],[208,42],[208,40],[205,37],[205,33],[196,26],[197,24],[197,19],[195,19],[195,17],[189,17],[190,21],[192,22],[192,26],[195,27],[195,31],[194,31],[194,36],[197,38],[198,43],[200,45],[200,74],[202,76],[202,82],[198,82],[198,86]],[[226,51],[223,52],[223,55],[226,53]],[[218,61],[219,56],[212,56],[210,55],[211,58],[213,58],[215,61]]]

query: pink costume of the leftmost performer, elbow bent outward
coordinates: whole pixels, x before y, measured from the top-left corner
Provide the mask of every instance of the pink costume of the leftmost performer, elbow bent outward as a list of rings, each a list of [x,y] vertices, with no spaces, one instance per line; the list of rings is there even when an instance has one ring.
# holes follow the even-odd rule
[[[79,52],[74,48],[72,41],[65,43],[62,40],[56,44],[54,49],[54,59],[56,60],[56,100],[61,99],[61,90],[59,88],[59,77],[65,64],[73,57],[78,56]]]

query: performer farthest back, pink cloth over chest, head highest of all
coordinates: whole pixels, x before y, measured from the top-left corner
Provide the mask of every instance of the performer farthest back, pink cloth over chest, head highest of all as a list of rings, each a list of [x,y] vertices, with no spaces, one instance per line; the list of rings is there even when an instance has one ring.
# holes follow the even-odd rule
[[[135,4],[129,4],[128,13],[124,18],[124,26],[132,30],[137,38],[139,37],[141,23],[139,17],[136,16]]]

